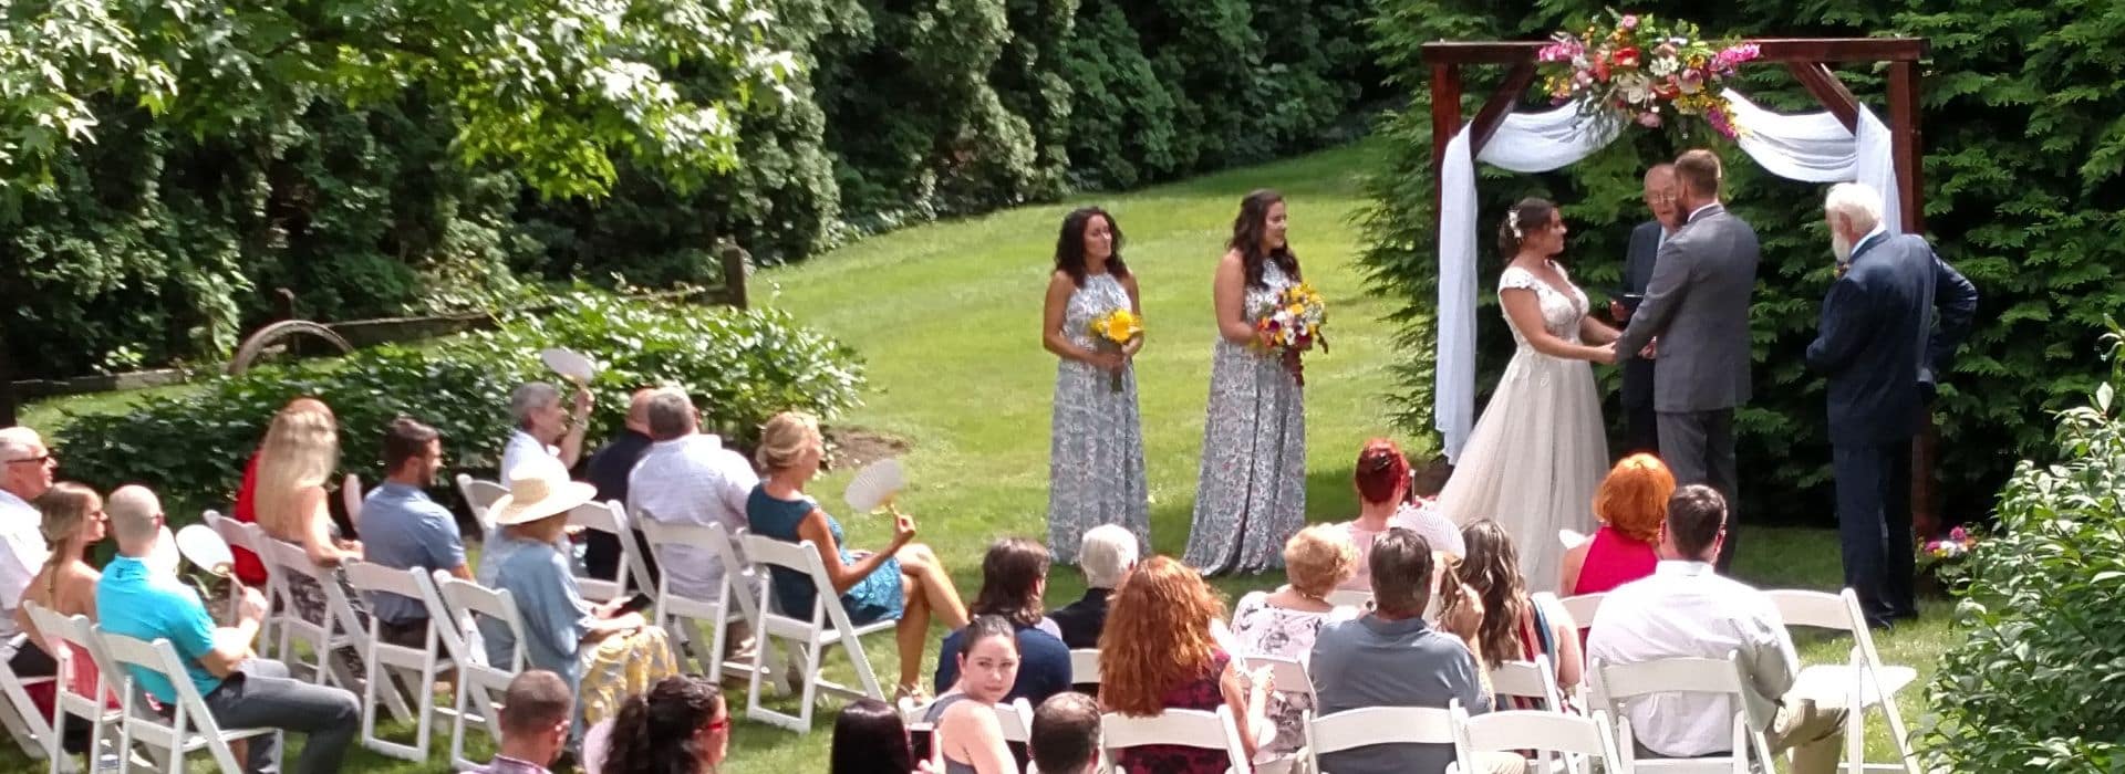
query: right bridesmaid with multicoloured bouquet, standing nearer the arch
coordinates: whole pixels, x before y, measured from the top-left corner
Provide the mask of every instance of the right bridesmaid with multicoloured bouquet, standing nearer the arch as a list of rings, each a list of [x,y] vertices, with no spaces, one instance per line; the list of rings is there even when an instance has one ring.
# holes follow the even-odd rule
[[[1284,227],[1284,197],[1250,193],[1232,221],[1230,250],[1218,261],[1218,346],[1186,556],[1205,575],[1277,568],[1284,541],[1305,526],[1303,390],[1281,358],[1250,348],[1254,320],[1298,284],[1298,257]]]

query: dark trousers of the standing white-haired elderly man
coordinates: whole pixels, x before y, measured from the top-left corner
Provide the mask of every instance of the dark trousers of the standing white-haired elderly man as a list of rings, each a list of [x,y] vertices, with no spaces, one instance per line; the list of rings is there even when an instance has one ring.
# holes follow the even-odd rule
[[[1910,441],[1834,443],[1838,539],[1844,587],[1859,594],[1868,623],[1919,615],[1912,594]]]

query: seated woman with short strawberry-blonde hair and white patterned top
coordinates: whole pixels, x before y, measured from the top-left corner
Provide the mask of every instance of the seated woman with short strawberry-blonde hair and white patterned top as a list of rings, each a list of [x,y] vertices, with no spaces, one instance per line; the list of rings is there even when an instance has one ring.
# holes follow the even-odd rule
[[[1352,577],[1356,564],[1358,547],[1337,526],[1315,524],[1284,541],[1284,573],[1290,583],[1241,596],[1232,609],[1232,636],[1247,651],[1243,655],[1309,659],[1313,636],[1337,611],[1328,604],[1328,592]],[[1269,721],[1277,725],[1277,740],[1262,749],[1258,761],[1298,753],[1307,744],[1305,713],[1313,708],[1313,696],[1296,687],[1269,696]]]

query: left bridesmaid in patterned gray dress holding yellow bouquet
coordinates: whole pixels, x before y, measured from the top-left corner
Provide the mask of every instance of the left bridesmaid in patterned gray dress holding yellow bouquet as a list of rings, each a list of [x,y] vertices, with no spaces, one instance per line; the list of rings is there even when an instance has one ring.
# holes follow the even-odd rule
[[[1128,528],[1139,547],[1152,543],[1130,365],[1143,337],[1101,348],[1090,333],[1114,310],[1143,314],[1137,278],[1122,265],[1122,229],[1105,210],[1082,208],[1062,218],[1041,314],[1041,344],[1062,358],[1048,447],[1048,553],[1062,564],[1077,564],[1077,543],[1101,524]]]

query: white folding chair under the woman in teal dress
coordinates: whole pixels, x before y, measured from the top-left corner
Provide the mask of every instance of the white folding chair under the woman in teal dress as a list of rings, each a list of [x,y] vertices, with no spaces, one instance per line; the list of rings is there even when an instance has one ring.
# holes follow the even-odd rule
[[[754,630],[752,649],[752,693],[746,698],[746,717],[761,719],[771,725],[782,725],[799,734],[812,732],[812,698],[818,689],[829,689],[833,693],[844,693],[852,698],[873,698],[884,700],[884,691],[878,687],[878,674],[871,672],[871,659],[863,655],[863,634],[882,632],[892,628],[895,619],[871,621],[856,626],[848,619],[848,611],[842,606],[842,598],[833,594],[833,581],[827,579],[827,566],[820,564],[818,547],[812,541],[788,543],[776,541],[771,536],[746,534],[746,556],[752,562],[765,566],[780,566],[786,570],[803,573],[812,579],[814,594],[812,611],[803,619],[795,617],[799,611],[776,611],[774,583],[761,583],[761,626]],[[765,575],[765,573],[763,573]],[[803,696],[799,698],[797,715],[776,713],[761,704],[761,676],[767,672],[767,651],[774,647],[774,638],[790,640],[799,649],[801,664],[793,668],[801,670]],[[848,651],[848,659],[856,666],[856,681],[861,687],[850,687],[842,683],[831,683],[820,674],[820,657],[829,647],[839,643]]]

